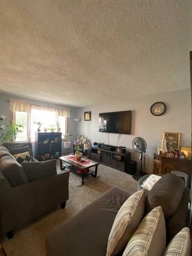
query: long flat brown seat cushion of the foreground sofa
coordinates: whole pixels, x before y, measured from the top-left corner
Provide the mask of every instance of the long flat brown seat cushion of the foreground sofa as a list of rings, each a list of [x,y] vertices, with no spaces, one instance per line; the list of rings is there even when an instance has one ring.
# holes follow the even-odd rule
[[[106,255],[114,219],[129,196],[129,191],[115,186],[74,217],[58,225],[46,240],[47,255]]]

